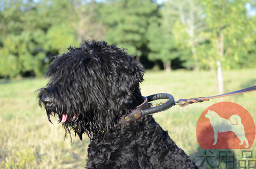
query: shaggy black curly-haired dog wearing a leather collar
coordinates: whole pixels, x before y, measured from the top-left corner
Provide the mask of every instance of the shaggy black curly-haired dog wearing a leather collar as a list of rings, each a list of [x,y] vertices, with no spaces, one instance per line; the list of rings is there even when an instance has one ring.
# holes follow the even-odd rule
[[[143,74],[124,49],[103,41],[70,47],[48,68],[39,105],[50,122],[50,115],[59,117],[66,134],[73,129],[81,140],[83,133],[91,138],[87,168],[197,168],[152,116],[125,122],[148,107],[139,87]]]

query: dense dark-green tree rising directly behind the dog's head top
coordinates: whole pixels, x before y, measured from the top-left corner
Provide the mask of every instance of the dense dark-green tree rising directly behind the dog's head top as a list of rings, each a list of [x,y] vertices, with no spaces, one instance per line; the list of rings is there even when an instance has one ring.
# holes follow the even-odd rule
[[[125,47],[130,54],[147,53],[147,28],[158,15],[158,4],[151,0],[106,1],[101,10],[106,26],[105,40]],[[136,57],[139,60],[139,55]]]

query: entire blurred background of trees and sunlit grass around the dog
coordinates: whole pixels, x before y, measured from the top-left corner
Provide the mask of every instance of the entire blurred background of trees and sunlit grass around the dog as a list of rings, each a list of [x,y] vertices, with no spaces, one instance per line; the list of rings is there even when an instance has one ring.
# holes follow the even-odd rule
[[[254,0],[0,0],[0,168],[86,165],[90,140],[74,133],[72,143],[64,140],[65,131],[48,123],[35,94],[47,83],[50,58],[84,40],[115,44],[140,61],[146,68],[143,95],[167,92],[189,99],[256,84]],[[197,120],[219,101],[154,115],[198,165],[204,150],[196,138]],[[242,105],[256,119],[255,93],[225,101]],[[241,151],[234,151],[238,166]]]

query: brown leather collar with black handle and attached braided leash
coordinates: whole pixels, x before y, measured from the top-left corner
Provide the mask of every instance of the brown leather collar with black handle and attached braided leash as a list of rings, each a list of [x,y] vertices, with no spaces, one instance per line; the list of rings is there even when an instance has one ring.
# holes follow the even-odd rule
[[[174,101],[174,97],[172,94],[168,93],[158,93],[158,94],[153,94],[147,97],[144,97],[144,102],[137,106],[136,109],[132,110],[132,112],[128,115],[124,115],[120,119],[120,124],[122,126],[126,125],[129,122],[132,122],[133,120],[138,120],[143,116],[154,114],[160,111],[164,111],[169,109],[170,107],[174,105],[179,105],[181,107],[185,107],[189,104],[193,103],[201,103],[204,101],[209,101],[210,99],[215,99],[215,98],[221,98],[229,95],[236,95],[236,94],[242,94],[242,93],[247,93],[251,91],[256,91],[256,86],[248,87],[242,90],[237,90],[237,91],[232,91],[229,93],[225,94],[220,94],[220,95],[214,95],[214,96],[208,96],[208,97],[200,97],[200,98],[191,98],[191,99],[180,99],[178,102]],[[151,101],[159,100],[159,99],[168,99],[168,101],[164,102],[163,104],[150,108],[151,107]]]

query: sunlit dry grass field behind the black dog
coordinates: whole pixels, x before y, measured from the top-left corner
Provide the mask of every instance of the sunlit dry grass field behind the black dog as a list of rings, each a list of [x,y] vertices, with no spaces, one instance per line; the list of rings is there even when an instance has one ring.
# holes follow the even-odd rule
[[[175,100],[198,96],[217,95],[215,77],[209,71],[147,71],[141,84],[143,95],[159,92],[173,94]],[[241,69],[224,73],[225,92],[256,85],[256,69]],[[87,148],[90,140],[84,135],[83,141],[72,133],[64,140],[65,131],[61,125],[48,122],[46,113],[37,102],[35,90],[45,86],[45,79],[23,79],[0,81],[0,168],[83,168],[86,165]],[[256,93],[228,96],[224,101],[240,104],[256,120]],[[187,107],[174,106],[167,111],[154,114],[157,122],[169,136],[198,165],[204,155],[197,142],[196,126],[201,113],[219,99],[191,104]],[[256,145],[252,145],[256,159]],[[241,150],[234,151],[235,165],[241,158]],[[209,151],[207,151],[209,153]],[[211,151],[217,160],[218,150]],[[212,154],[210,154],[212,155]],[[248,160],[248,159],[246,159]],[[248,162],[247,162],[248,163]],[[247,164],[246,163],[246,164]],[[225,168],[221,163],[219,168]],[[248,166],[247,166],[248,167]],[[210,168],[205,162],[202,168]]]

